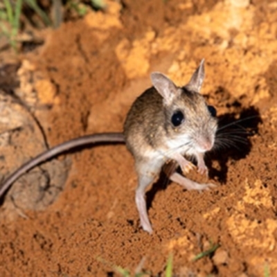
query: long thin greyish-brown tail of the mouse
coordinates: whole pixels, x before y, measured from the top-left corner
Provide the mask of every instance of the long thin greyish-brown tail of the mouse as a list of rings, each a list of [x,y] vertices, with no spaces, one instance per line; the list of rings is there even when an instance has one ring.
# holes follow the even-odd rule
[[[124,143],[125,139],[123,133],[102,133],[102,134],[90,134],[87,136],[81,136],[77,139],[71,139],[65,143],[56,145],[55,147],[42,152],[37,157],[30,159],[24,163],[20,168],[15,170],[6,180],[3,181],[0,188],[0,198],[6,193],[8,188],[28,170],[35,168],[40,163],[52,159],[63,152],[73,150],[80,146],[90,145],[95,143]]]

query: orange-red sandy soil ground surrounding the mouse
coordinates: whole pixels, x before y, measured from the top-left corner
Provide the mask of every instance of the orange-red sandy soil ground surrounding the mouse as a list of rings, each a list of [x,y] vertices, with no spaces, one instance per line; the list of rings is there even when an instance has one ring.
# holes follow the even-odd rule
[[[175,276],[277,276],[276,2],[108,4],[44,30],[44,44],[17,62],[1,54],[2,178],[47,145],[122,131],[152,71],[186,84],[202,58],[207,102],[220,124],[243,119],[241,127],[226,128],[229,148],[207,154],[209,180],[189,174],[216,188],[150,188],[152,235],[139,226],[125,145],[84,148],[31,170],[1,204],[0,275],[114,276],[117,265],[164,276],[172,253]]]

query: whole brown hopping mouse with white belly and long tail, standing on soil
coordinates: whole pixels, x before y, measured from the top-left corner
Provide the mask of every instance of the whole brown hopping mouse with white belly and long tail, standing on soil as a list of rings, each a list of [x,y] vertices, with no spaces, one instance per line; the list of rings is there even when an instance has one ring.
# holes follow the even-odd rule
[[[177,87],[162,73],[152,73],[153,87],[134,101],[127,114],[123,133],[91,134],[46,150],[24,163],[3,181],[0,197],[3,197],[25,172],[58,154],[94,143],[125,142],[134,157],[138,176],[135,200],[141,226],[144,231],[152,233],[145,190],[159,177],[163,165],[168,161],[175,161],[186,174],[195,166],[184,156],[193,156],[197,161],[198,172],[208,172],[204,154],[211,150],[215,143],[217,118],[215,108],[207,105],[200,94],[204,75],[204,60],[184,87]],[[215,186],[198,184],[176,171],[170,172],[168,177],[187,190],[205,190]]]

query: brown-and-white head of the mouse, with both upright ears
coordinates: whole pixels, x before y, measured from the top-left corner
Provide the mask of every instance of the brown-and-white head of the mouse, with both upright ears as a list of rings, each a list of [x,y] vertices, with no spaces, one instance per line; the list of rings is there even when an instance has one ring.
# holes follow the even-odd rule
[[[162,73],[151,74],[154,88],[163,97],[168,146],[180,152],[195,154],[213,148],[216,110],[200,94],[204,76],[204,60],[184,87],[177,87]]]

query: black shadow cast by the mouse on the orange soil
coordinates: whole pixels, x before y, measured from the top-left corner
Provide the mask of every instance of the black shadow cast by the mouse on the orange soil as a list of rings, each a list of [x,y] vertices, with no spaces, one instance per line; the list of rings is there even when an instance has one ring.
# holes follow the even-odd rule
[[[251,151],[250,137],[258,133],[258,125],[262,123],[260,112],[255,107],[242,109],[240,114],[231,113],[218,116],[218,128],[215,146],[205,155],[209,178],[217,179],[221,184],[226,184],[229,159],[238,161],[244,159]],[[213,161],[217,161],[220,169],[213,168]],[[164,168],[163,168],[164,169]],[[178,166],[172,165],[171,170],[180,172]],[[159,190],[165,190],[170,184],[169,172],[161,170],[161,175],[146,195],[146,205],[152,206],[155,195]]]

